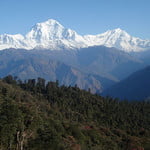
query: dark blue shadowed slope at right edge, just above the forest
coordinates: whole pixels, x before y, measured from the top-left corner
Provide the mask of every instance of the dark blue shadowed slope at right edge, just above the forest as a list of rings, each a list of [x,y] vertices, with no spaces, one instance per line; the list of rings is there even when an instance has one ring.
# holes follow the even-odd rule
[[[150,66],[137,71],[125,80],[113,85],[103,95],[128,100],[144,100],[150,97]]]

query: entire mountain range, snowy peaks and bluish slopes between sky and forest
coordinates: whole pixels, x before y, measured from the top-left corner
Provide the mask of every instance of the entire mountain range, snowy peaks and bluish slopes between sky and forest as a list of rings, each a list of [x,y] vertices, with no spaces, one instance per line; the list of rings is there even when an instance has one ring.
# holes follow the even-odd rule
[[[121,99],[150,96],[144,92],[148,87],[145,76],[134,78],[136,72],[150,65],[150,40],[132,37],[119,28],[81,36],[49,19],[37,23],[25,36],[0,35],[0,50],[0,77],[59,80],[60,85],[77,85]],[[139,84],[142,96],[136,94]]]

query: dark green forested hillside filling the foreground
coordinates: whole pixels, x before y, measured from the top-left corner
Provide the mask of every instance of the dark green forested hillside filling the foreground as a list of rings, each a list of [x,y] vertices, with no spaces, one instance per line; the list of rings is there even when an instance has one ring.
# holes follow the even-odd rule
[[[149,150],[150,102],[44,79],[0,80],[1,150]]]

